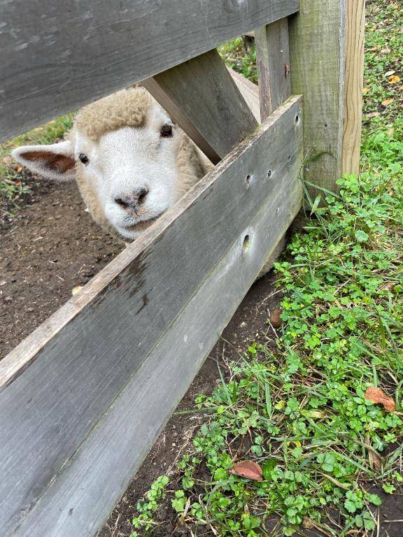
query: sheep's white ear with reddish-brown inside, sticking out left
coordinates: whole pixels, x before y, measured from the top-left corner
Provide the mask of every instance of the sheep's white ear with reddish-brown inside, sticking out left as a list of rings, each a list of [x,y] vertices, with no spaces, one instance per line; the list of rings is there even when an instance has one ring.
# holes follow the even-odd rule
[[[69,140],[50,145],[22,145],[11,152],[17,162],[53,181],[70,181],[75,176],[73,144]]]

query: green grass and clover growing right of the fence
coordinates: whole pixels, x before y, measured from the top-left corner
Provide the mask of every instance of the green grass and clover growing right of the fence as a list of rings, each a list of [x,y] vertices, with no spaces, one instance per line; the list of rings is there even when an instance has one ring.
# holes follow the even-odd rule
[[[399,7],[369,4],[360,178],[342,178],[339,196],[324,192],[324,208],[307,199],[306,233],[276,264],[285,290],[276,351],[251,345],[227,382],[197,398],[206,421],[178,464],[181,488],[169,492],[195,535],[272,535],[272,514],[284,535],[369,535],[381,505],[370,488],[393,494],[403,482]],[[241,40],[221,53],[236,71],[253,71]],[[395,412],[368,401],[369,386],[393,397]],[[260,464],[262,482],[229,472],[242,459]],[[142,527],[139,516],[134,524]],[[142,535],[152,533],[148,525]]]

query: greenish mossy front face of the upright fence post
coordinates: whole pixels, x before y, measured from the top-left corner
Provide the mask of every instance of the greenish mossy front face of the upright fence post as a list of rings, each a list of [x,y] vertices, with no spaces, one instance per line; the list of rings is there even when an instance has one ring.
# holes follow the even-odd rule
[[[289,30],[291,90],[304,94],[308,161],[304,178],[337,191],[342,169],[346,0],[301,0]],[[312,194],[323,192],[313,189]]]

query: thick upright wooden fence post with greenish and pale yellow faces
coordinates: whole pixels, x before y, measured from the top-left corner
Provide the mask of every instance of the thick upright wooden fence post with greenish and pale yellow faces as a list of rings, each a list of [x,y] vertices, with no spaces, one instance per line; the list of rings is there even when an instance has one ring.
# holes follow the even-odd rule
[[[304,178],[334,192],[343,173],[358,171],[363,9],[364,0],[300,0],[290,18],[292,93],[304,95]]]

